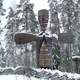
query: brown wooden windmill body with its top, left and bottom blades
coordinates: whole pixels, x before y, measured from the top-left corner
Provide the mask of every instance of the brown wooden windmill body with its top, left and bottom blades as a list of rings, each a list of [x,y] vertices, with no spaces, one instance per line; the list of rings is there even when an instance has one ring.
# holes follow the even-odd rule
[[[41,32],[36,35],[32,33],[16,33],[16,44],[25,44],[36,41],[37,45],[37,65],[38,67],[50,68],[52,65],[51,45],[52,38],[46,32],[48,24],[48,10],[42,9],[38,12],[38,20],[41,27]],[[54,38],[56,40],[56,38]],[[50,46],[50,47],[49,47]]]

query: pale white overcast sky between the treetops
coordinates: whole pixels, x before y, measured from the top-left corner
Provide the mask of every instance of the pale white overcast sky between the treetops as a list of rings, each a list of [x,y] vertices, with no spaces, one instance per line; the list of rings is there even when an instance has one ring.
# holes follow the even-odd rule
[[[19,0],[4,0],[4,8],[8,9],[9,6],[16,8],[16,4]],[[48,0],[30,0],[31,3],[34,3],[34,12],[37,14],[40,9],[49,9]]]

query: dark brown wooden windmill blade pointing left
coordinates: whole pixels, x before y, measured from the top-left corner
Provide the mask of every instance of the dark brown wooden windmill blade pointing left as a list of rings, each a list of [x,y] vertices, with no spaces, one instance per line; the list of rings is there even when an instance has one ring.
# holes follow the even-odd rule
[[[15,42],[16,44],[25,44],[32,41],[37,41],[38,36],[29,33],[16,33]]]

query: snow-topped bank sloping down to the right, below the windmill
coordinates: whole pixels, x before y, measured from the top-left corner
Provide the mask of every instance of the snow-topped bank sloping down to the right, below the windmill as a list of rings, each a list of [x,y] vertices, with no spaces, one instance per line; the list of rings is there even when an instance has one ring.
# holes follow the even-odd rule
[[[80,80],[80,74],[61,72],[59,70],[51,69],[34,69],[37,78],[51,79],[51,80]]]

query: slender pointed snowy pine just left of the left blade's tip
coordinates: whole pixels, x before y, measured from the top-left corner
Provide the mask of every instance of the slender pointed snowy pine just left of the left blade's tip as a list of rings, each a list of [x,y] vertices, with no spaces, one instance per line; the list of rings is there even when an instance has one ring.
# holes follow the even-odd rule
[[[14,44],[14,35],[17,31],[16,27],[16,18],[15,12],[10,7],[9,14],[7,16],[8,22],[6,25],[7,33],[6,36],[6,66],[8,67],[16,67],[16,59],[15,59],[15,44]]]

